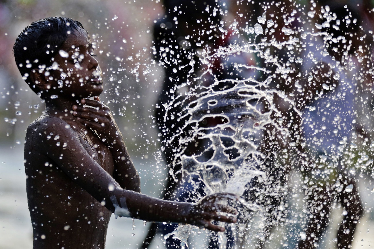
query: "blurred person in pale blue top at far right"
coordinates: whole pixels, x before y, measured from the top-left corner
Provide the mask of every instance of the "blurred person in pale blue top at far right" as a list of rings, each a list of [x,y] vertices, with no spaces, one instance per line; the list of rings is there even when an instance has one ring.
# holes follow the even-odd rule
[[[322,3],[325,1],[314,6],[317,13]],[[343,208],[343,221],[337,233],[338,249],[351,247],[362,215],[355,175],[349,172],[359,67],[355,53],[359,50],[361,18],[354,9],[342,4],[321,10],[321,26],[316,27],[327,34],[307,42],[309,60],[303,64],[309,82],[305,85],[310,87],[306,88],[310,107],[303,113],[306,157],[301,171],[305,175],[310,219],[299,249],[315,248],[329,224],[332,202],[340,203]],[[312,65],[307,65],[307,61]],[[321,84],[322,89],[316,91]]]

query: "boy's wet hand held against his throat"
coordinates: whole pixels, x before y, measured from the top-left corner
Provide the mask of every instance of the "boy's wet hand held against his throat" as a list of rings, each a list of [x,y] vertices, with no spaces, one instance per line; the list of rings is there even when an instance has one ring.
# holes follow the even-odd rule
[[[122,141],[122,135],[110,109],[100,102],[99,97],[95,97],[94,100],[82,99],[81,103],[82,106],[73,106],[73,115],[77,120],[96,130],[99,137],[108,145],[111,145],[114,141]],[[92,106],[92,108],[87,106]]]

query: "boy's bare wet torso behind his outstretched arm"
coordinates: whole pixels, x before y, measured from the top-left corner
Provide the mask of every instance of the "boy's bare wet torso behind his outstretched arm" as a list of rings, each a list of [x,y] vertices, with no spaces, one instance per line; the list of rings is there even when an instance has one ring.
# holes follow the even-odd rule
[[[50,153],[59,150],[54,151],[53,146],[46,148],[40,141],[39,133],[43,132],[44,124],[53,122],[66,122],[65,127],[70,126],[69,129],[75,131],[73,133],[86,152],[110,175],[114,171],[111,152],[92,130],[85,129],[80,123],[49,115],[34,121],[27,130],[25,143],[27,196],[34,228],[34,248],[104,248],[111,212],[72,181],[50,158]],[[61,149],[64,144],[58,144],[60,139],[56,136],[59,138],[58,134],[52,134],[49,139],[56,140],[56,146]],[[77,156],[79,160],[78,154],[66,148],[60,156]],[[89,167],[87,165],[87,174]]]

